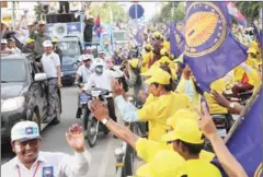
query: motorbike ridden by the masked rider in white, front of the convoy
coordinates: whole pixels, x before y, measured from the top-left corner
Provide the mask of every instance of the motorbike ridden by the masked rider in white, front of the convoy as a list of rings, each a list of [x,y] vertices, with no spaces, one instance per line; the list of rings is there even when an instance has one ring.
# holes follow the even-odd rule
[[[80,87],[82,85],[80,85]],[[111,92],[108,92],[107,90],[92,87],[91,90],[80,94],[79,101],[82,108],[82,120],[87,133],[85,134],[87,142],[90,148],[95,146],[98,135],[100,133],[104,133],[104,135],[106,135],[110,131],[103,123],[98,121],[98,119],[90,113],[90,109],[88,107],[89,101],[93,98],[100,98],[101,102],[107,104],[105,96],[108,95]]]

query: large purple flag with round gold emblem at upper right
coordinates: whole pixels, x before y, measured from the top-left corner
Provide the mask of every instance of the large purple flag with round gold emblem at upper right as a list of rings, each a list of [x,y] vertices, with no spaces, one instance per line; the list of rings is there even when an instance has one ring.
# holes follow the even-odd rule
[[[247,47],[229,28],[226,2],[187,2],[184,60],[201,88],[210,84],[247,59]]]

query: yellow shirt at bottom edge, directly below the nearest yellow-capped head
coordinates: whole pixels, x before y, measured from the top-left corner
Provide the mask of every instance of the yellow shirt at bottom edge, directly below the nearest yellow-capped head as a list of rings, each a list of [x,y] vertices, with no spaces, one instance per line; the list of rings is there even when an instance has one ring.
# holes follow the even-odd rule
[[[187,177],[221,177],[220,170],[209,162],[203,160],[188,160],[178,168],[178,175],[181,177],[187,175]]]

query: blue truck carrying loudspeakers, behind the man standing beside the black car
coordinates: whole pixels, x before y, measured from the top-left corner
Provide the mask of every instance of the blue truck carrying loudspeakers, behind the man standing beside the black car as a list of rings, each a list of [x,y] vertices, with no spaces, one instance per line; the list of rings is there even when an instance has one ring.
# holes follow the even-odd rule
[[[78,59],[82,54],[81,43],[78,37],[68,36],[58,40],[57,46],[62,51],[61,81],[62,84],[72,85],[78,70]]]

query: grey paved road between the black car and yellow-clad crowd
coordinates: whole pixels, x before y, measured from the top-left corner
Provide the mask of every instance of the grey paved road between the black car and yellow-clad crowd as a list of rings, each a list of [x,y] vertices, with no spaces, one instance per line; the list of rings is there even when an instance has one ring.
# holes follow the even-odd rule
[[[72,150],[67,145],[65,132],[67,129],[80,120],[75,118],[77,109],[77,88],[64,87],[62,92],[62,115],[61,122],[57,126],[48,126],[43,132],[42,150],[50,152],[65,152],[73,154]],[[92,154],[92,164],[88,177],[114,177],[115,176],[115,158],[114,150],[121,145],[121,141],[108,134],[101,138],[93,149],[88,149]],[[88,146],[88,144],[87,144]],[[1,164],[7,162],[11,156],[11,150],[2,146]]]

